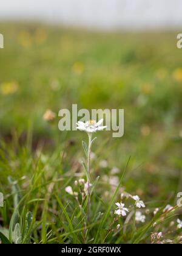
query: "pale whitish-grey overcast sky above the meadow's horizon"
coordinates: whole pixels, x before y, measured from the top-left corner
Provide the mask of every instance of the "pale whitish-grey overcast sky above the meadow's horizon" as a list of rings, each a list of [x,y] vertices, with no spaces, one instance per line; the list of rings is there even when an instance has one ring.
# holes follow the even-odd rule
[[[101,29],[182,29],[182,0],[1,0],[4,19]]]

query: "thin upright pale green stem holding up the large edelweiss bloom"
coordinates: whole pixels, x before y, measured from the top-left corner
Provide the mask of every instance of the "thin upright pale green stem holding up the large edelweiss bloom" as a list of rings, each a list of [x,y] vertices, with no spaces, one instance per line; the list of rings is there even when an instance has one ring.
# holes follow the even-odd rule
[[[89,146],[88,146],[88,159],[87,159],[87,171],[89,176],[87,177],[88,182],[88,210],[87,210],[87,220],[90,221],[90,152],[91,152],[91,146],[92,146],[92,133],[88,133],[89,136]]]

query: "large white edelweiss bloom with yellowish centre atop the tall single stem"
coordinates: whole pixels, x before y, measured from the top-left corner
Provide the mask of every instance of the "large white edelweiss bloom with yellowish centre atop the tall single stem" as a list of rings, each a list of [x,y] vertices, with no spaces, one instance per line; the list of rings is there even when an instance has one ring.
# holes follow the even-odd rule
[[[87,133],[93,133],[93,132],[97,132],[98,130],[103,130],[107,127],[107,126],[100,126],[102,123],[103,123],[103,119],[100,119],[97,123],[95,120],[90,120],[90,121],[87,121],[86,123],[78,121],[78,123],[76,123],[78,125],[76,129],[83,130],[84,132],[87,132]]]

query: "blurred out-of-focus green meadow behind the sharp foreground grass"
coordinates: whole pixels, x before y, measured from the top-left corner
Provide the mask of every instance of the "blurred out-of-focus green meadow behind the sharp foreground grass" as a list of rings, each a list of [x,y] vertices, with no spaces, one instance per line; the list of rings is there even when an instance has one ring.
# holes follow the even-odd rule
[[[126,187],[140,195],[145,191],[166,199],[182,190],[182,51],[176,46],[177,33],[101,33],[26,23],[1,23],[0,31],[5,38],[0,50],[5,148],[15,138],[23,148],[31,134],[32,154],[41,143],[45,154],[63,145],[70,159],[76,158],[83,155],[86,135],[60,132],[59,110],[72,104],[124,108],[124,137],[101,132],[93,150],[103,144],[98,156],[121,170],[131,156]],[[56,113],[52,124],[43,118],[47,109]],[[1,181],[12,172],[1,165]]]

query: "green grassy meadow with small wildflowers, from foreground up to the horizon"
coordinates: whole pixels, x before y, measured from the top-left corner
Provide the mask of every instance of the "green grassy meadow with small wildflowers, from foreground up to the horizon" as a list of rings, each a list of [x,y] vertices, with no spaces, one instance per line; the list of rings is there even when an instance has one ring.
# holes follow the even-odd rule
[[[182,243],[177,33],[22,23],[0,32],[1,243]],[[124,108],[124,136],[103,130],[92,145],[89,218],[87,134],[58,129],[72,104]]]

